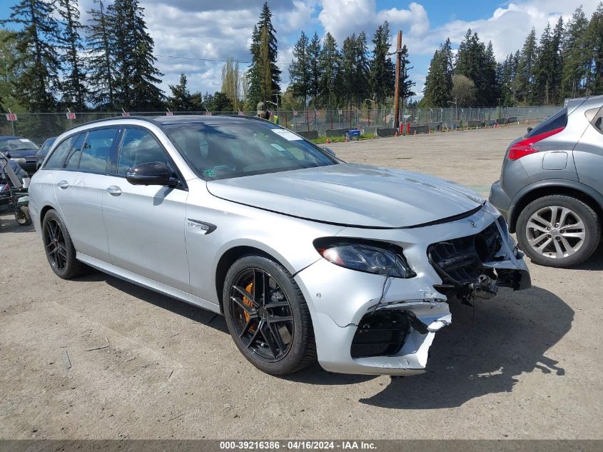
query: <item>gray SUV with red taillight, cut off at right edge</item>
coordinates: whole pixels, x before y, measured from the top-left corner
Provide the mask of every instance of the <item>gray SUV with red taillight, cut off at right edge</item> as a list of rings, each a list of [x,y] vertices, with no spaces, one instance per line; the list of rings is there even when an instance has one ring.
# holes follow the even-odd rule
[[[490,202],[536,263],[576,265],[599,246],[602,120],[603,96],[572,99],[507,149]]]

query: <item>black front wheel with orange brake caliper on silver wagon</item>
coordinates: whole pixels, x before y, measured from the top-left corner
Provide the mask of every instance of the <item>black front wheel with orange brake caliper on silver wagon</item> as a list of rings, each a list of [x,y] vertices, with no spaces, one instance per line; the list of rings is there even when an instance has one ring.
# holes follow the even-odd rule
[[[233,263],[224,282],[230,336],[243,356],[272,375],[288,375],[316,360],[308,305],[280,264],[263,256]]]

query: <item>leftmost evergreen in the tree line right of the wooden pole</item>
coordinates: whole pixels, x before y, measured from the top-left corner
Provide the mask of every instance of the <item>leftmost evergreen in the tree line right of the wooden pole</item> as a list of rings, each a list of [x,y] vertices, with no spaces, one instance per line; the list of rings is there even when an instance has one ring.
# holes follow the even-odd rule
[[[435,51],[431,59],[421,106],[445,107],[451,100],[452,92],[452,46],[450,39]]]

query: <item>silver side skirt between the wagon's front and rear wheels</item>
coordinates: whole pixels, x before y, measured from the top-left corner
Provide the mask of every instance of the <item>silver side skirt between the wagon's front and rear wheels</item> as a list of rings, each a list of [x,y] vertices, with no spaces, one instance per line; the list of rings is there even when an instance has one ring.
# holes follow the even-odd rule
[[[193,306],[198,306],[199,308],[207,309],[208,311],[212,311],[218,314],[221,313],[219,305],[217,305],[216,303],[212,303],[211,301],[204,300],[203,298],[199,298],[198,296],[191,295],[191,293],[183,292],[177,288],[173,288],[171,286],[167,286],[166,284],[159,283],[151,278],[140,276],[131,271],[124,270],[123,268],[120,268],[118,266],[114,266],[111,263],[101,261],[91,256],[87,256],[86,254],[76,253],[76,258],[78,261],[82,261],[83,263],[86,263],[87,265],[96,268],[97,270],[100,270],[103,273],[108,273],[111,276],[123,279],[124,281],[128,281],[129,283],[148,288],[151,291],[162,293],[163,295],[170,296],[171,298],[176,298],[179,301],[184,301],[185,303],[192,304]]]

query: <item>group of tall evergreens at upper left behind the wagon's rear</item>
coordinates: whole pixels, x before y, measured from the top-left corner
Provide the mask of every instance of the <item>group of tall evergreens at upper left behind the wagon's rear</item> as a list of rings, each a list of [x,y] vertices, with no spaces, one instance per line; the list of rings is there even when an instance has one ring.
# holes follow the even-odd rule
[[[96,0],[81,24],[77,0],[21,0],[1,24],[7,109],[85,111],[163,106],[163,76],[138,0]]]

